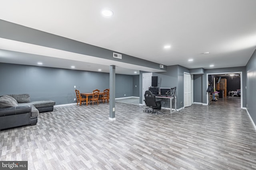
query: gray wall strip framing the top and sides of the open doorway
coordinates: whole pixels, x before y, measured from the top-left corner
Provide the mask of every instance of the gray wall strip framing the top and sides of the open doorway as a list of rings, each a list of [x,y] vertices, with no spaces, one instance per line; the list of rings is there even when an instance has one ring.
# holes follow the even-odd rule
[[[242,84],[243,88],[242,93],[243,93],[243,106],[246,107],[246,67],[230,67],[230,68],[215,68],[215,69],[208,69],[205,70],[205,74],[203,74],[203,86],[202,86],[202,101],[204,104],[207,103],[207,95],[206,95],[206,90],[207,90],[207,82],[206,82],[206,76],[207,74],[215,74],[215,73],[224,73],[224,72],[242,72]]]

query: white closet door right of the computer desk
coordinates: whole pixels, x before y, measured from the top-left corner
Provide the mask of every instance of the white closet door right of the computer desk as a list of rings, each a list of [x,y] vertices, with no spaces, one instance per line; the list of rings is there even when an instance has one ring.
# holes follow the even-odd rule
[[[192,78],[184,73],[184,107],[192,105]]]

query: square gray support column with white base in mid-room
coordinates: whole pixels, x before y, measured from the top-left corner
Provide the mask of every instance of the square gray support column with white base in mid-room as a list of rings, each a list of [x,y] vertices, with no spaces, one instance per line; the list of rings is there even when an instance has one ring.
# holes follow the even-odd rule
[[[109,102],[109,120],[116,120],[116,66],[111,65],[109,71],[109,87],[110,87],[110,102]]]

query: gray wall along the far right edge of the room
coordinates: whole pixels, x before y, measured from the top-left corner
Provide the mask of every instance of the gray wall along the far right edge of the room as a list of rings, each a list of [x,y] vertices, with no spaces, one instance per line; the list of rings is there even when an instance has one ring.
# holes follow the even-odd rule
[[[247,110],[252,117],[254,123],[256,123],[256,105],[255,105],[255,96],[256,96],[256,50],[252,54],[252,57],[246,64],[246,102]]]

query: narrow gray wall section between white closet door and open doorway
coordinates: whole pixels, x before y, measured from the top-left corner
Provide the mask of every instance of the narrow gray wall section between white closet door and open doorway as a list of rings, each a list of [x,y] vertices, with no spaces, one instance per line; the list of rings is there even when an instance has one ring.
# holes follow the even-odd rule
[[[193,95],[194,95],[194,102],[202,103],[202,81],[203,75],[202,74],[194,74],[193,76]]]

